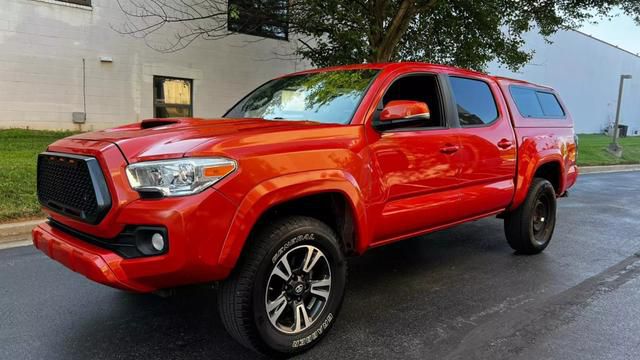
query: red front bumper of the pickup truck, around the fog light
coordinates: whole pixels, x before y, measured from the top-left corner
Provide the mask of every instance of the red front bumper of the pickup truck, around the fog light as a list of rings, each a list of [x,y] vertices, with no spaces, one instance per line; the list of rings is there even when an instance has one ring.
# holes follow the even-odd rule
[[[219,264],[219,258],[236,207],[216,190],[182,198],[137,200],[114,210],[114,228],[127,224],[165,227],[168,252],[127,259],[49,223],[33,230],[33,244],[95,282],[134,292],[222,280],[231,271]]]

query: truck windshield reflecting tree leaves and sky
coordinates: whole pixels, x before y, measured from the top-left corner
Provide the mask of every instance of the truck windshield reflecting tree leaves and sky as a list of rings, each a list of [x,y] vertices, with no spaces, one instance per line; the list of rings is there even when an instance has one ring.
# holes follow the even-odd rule
[[[225,117],[348,124],[377,70],[338,70],[272,80]]]

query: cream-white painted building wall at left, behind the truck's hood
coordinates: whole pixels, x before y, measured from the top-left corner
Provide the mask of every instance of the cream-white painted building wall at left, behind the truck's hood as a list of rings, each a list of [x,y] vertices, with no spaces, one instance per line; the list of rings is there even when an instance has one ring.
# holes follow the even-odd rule
[[[82,59],[83,130],[152,117],[154,75],[193,79],[194,116],[217,117],[257,85],[306,66],[275,59],[275,52],[287,52],[288,42],[256,42],[260,38],[244,35],[159,53],[112,29],[124,20],[113,0],[93,0],[92,8],[55,0],[2,0],[0,128],[77,129],[71,119],[73,112],[83,111]],[[101,63],[101,56],[113,63]]]

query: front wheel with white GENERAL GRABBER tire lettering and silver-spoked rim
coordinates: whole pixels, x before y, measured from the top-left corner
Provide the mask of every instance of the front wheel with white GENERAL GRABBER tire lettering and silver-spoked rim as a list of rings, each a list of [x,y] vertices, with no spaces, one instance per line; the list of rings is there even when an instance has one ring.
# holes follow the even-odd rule
[[[218,291],[229,334],[271,356],[313,347],[335,322],[344,297],[347,264],[333,230],[314,218],[290,216],[262,227],[245,247]]]

